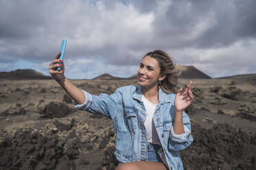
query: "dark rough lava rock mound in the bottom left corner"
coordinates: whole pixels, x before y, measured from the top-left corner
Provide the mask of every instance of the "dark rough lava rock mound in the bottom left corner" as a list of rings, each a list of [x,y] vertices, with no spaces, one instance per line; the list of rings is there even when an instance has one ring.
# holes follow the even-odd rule
[[[0,138],[5,138],[0,143],[1,169],[56,169],[65,152],[69,163],[78,153],[73,143],[63,143],[57,136],[44,136],[30,128],[14,134],[1,132]]]

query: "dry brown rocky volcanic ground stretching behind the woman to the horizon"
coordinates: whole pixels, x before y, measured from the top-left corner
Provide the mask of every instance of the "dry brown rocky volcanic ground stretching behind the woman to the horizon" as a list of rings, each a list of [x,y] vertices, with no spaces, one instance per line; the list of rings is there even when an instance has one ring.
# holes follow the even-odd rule
[[[111,94],[137,80],[72,80]],[[189,80],[180,79],[184,88]],[[256,77],[193,80],[184,169],[256,169]],[[76,110],[54,80],[1,80],[0,169],[115,169],[113,124]]]

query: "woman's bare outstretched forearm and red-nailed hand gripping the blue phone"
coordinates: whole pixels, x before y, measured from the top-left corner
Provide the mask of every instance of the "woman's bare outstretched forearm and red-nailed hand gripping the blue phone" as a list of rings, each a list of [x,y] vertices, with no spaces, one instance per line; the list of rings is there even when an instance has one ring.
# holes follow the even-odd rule
[[[74,84],[65,77],[64,62],[58,59],[59,56],[61,56],[61,52],[58,52],[54,57],[54,60],[50,63],[50,74],[54,77],[54,80],[61,85],[65,92],[74,99],[74,101],[76,101],[77,104],[83,104],[85,102],[85,95],[82,90],[74,86]],[[58,67],[61,67],[61,71],[56,70]]]

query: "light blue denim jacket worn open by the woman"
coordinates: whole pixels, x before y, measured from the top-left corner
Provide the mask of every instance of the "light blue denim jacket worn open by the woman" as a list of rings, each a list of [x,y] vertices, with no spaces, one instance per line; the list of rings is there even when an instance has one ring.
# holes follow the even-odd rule
[[[144,126],[146,111],[141,101],[141,86],[117,88],[111,95],[91,95],[85,90],[84,104],[74,106],[95,114],[103,114],[113,121],[116,130],[116,151],[119,162],[133,162],[147,159],[147,132]],[[175,94],[167,94],[159,88],[158,104],[153,122],[162,144],[158,151],[169,169],[183,169],[179,151],[193,142],[189,117],[183,112],[184,133],[173,132]]]

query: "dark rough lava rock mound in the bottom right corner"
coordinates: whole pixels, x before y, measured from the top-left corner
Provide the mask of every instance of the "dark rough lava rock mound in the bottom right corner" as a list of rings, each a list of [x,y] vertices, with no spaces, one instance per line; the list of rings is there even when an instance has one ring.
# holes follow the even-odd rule
[[[205,130],[200,125],[192,127],[194,141],[182,151],[184,165],[191,169],[255,169],[256,148],[252,138],[239,128],[216,124]],[[186,167],[185,167],[186,169]]]

